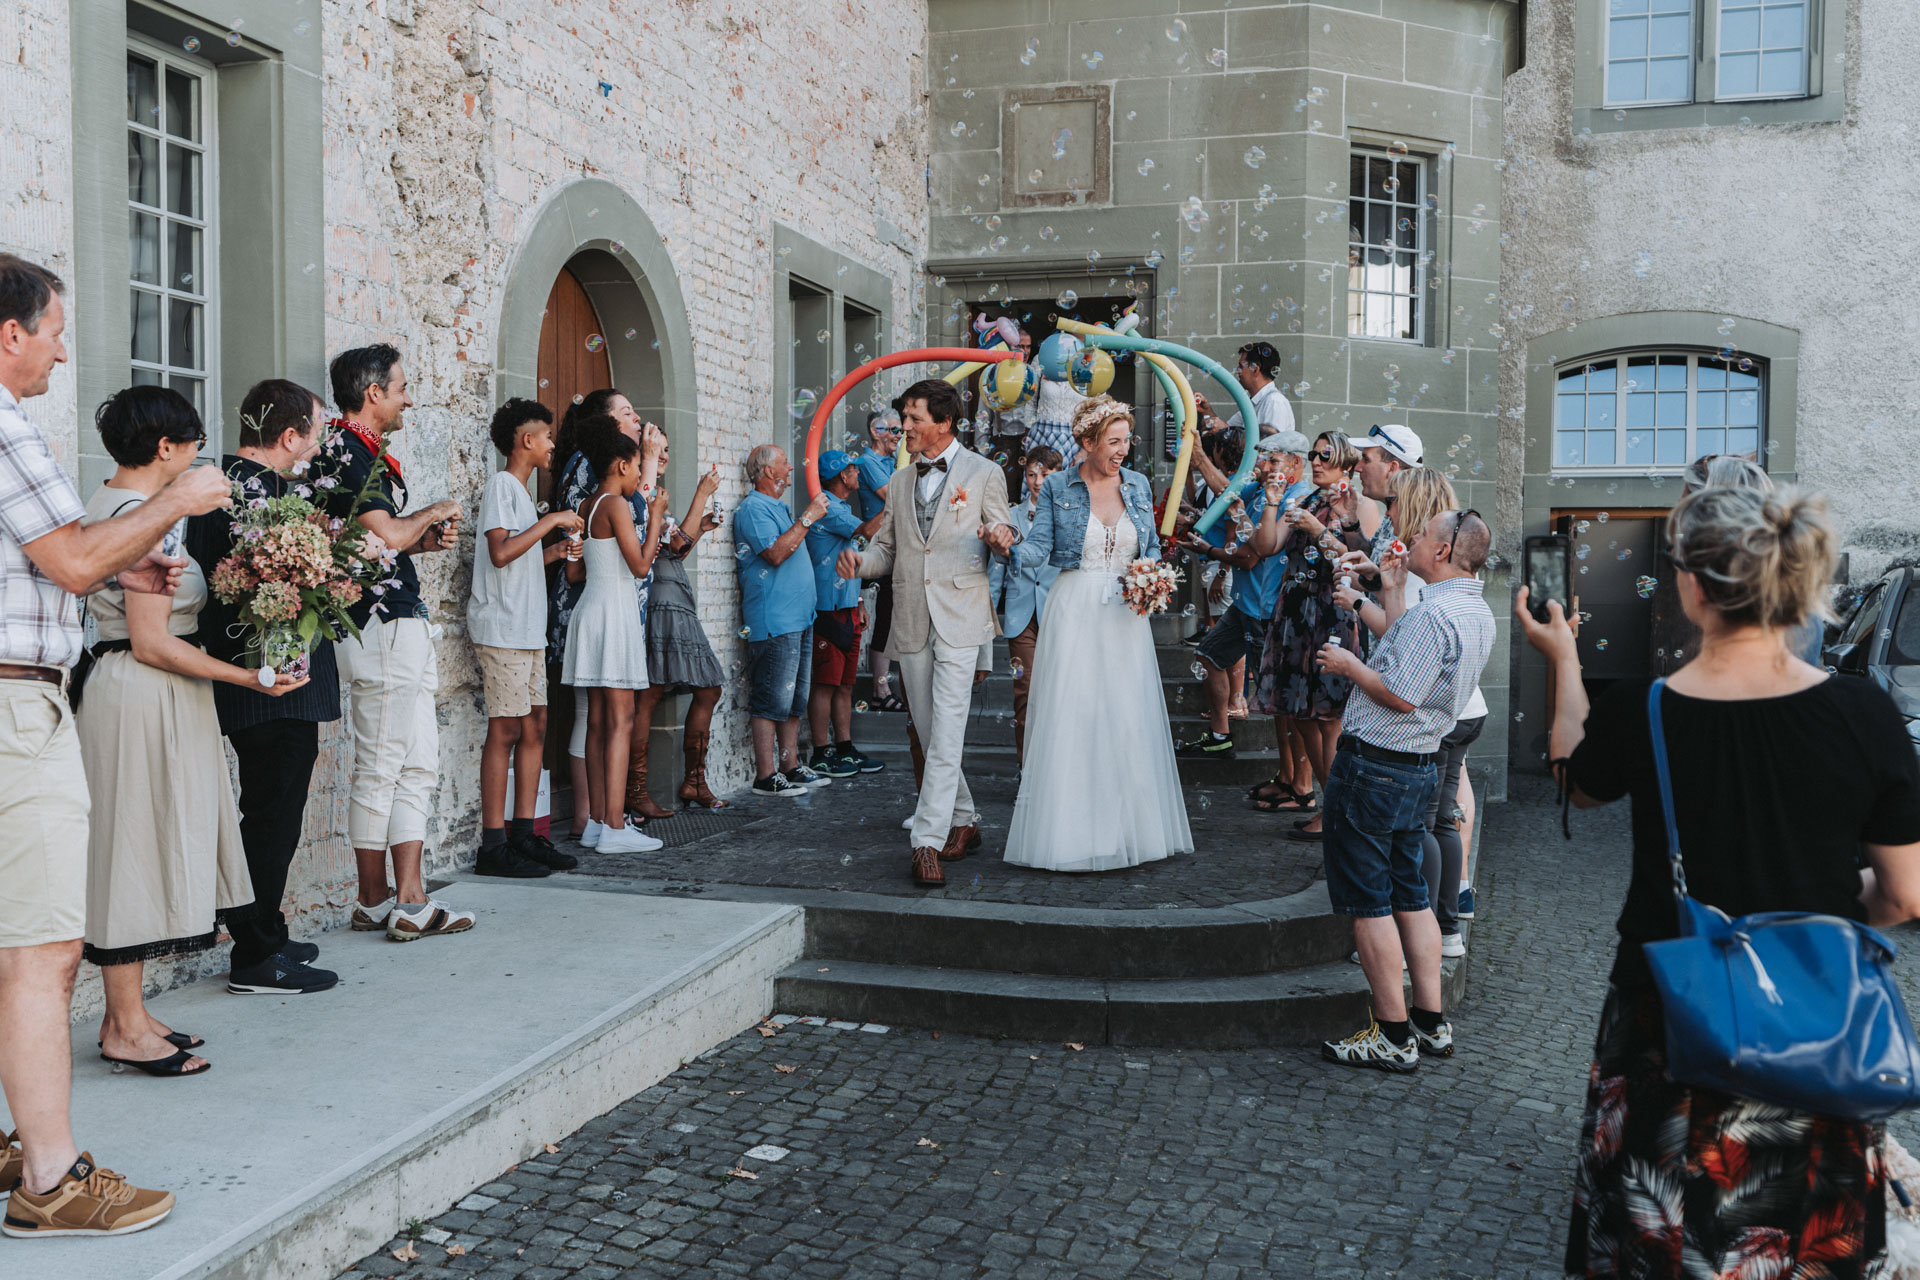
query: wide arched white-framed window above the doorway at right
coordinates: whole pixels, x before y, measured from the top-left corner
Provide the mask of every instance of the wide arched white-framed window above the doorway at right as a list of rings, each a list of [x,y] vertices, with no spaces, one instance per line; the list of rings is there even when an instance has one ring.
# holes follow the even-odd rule
[[[1626,351],[1561,365],[1555,470],[1678,470],[1697,457],[1764,462],[1766,365],[1693,351]]]

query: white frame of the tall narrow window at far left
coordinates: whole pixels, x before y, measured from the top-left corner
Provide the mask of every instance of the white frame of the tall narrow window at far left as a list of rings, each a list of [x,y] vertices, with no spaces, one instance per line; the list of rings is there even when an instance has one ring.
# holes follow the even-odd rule
[[[127,351],[127,370],[129,380],[134,370],[156,374],[159,386],[173,386],[175,376],[198,378],[202,382],[202,403],[200,416],[204,422],[211,424],[221,418],[221,326],[219,326],[219,100],[217,84],[219,77],[215,67],[198,58],[186,58],[179,50],[173,50],[156,40],[148,40],[138,35],[127,36],[127,56],[138,56],[154,61],[156,65],[156,96],[159,104],[167,100],[167,71],[179,71],[190,75],[200,83],[200,142],[188,142],[184,138],[175,138],[165,130],[157,130],[150,125],[127,121],[127,132],[140,132],[159,142],[159,205],[142,205],[132,200],[129,192],[125,207],[127,217],[134,213],[146,213],[159,219],[159,255],[161,271],[159,284],[154,286],[146,280],[136,280],[132,273],[132,263],[127,265],[127,305],[132,303],[132,294],[154,294],[159,297],[159,361],[136,361],[132,351]],[[184,217],[171,213],[167,209],[167,161],[165,148],[184,146],[200,152],[200,217]],[[173,242],[167,234],[169,223],[180,223],[200,230],[200,278],[202,286],[198,294],[177,288],[173,273]],[[131,232],[129,232],[131,234]],[[129,242],[131,244],[131,242]],[[171,342],[171,303],[173,299],[182,299],[198,303],[200,313],[200,347],[202,347],[202,368],[186,368],[184,365],[175,365],[171,361],[169,342]],[[132,317],[129,315],[129,324]],[[221,441],[215,438],[211,426],[207,428],[207,441],[202,445],[204,453],[219,457]]]

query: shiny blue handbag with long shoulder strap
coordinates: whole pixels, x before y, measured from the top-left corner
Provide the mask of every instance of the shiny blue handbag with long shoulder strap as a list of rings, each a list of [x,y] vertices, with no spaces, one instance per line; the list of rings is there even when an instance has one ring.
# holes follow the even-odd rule
[[[1920,1103],[1920,1044],[1893,981],[1893,942],[1839,915],[1695,902],[1680,864],[1661,691],[1647,691],[1680,936],[1645,942],[1667,1009],[1667,1075],[1793,1111],[1884,1121]]]

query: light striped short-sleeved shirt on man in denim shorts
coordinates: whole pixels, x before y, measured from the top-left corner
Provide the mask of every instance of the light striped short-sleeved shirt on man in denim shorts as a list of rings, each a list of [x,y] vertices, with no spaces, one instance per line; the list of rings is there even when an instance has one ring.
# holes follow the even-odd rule
[[[1427,756],[1453,729],[1486,656],[1494,651],[1494,610],[1478,578],[1446,578],[1421,589],[1419,604],[1394,620],[1367,660],[1380,683],[1413,710],[1380,706],[1356,685],[1340,729],[1384,750]]]

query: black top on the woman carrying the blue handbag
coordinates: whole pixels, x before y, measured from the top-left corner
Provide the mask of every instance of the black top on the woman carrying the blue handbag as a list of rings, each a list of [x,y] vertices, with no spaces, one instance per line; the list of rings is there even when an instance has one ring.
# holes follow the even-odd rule
[[[1572,785],[1596,800],[1634,798],[1634,875],[1613,967],[1622,986],[1651,983],[1640,942],[1678,933],[1647,683],[1622,679],[1601,695],[1569,764]],[[1920,760],[1893,700],[1868,679],[1830,676],[1741,702],[1668,687],[1661,712],[1688,892],[1728,915],[1866,919],[1860,846],[1920,842]]]

